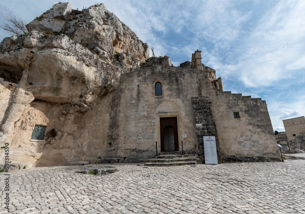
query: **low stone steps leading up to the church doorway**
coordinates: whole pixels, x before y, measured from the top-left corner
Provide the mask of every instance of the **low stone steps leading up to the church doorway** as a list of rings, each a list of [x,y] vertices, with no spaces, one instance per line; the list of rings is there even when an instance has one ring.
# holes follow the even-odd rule
[[[198,161],[198,155],[181,155],[181,152],[160,152],[158,156],[152,156],[152,159],[145,160],[143,166],[181,166],[195,165]]]

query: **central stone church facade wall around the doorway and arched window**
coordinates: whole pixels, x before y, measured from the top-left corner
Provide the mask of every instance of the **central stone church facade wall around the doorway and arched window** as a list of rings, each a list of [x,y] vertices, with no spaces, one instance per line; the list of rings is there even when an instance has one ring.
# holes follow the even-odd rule
[[[185,154],[197,153],[191,97],[199,94],[199,78],[206,78],[203,71],[172,66],[122,74],[119,88],[102,98],[88,118],[83,132],[88,137],[81,140],[87,142],[87,156],[127,157],[125,162],[150,158],[156,141],[160,152],[159,118],[172,116],[178,119],[179,151],[183,141]],[[162,96],[154,95],[156,81],[162,83]]]

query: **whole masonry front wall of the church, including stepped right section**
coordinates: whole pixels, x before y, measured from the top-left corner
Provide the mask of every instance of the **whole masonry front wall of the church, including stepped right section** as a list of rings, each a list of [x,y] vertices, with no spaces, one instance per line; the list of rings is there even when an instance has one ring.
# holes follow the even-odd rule
[[[162,96],[154,95],[156,81],[162,83]],[[195,110],[192,97],[198,97],[193,102],[209,102],[200,103],[201,109]],[[96,103],[80,141],[87,144],[88,158],[127,157],[125,162],[140,162],[155,155],[156,141],[160,152],[160,117],[175,116],[179,151],[183,141],[186,154],[199,153],[204,160],[203,142],[198,140],[203,133],[194,128],[196,112],[203,113],[196,121],[206,123],[204,136],[218,137],[221,155],[278,155],[265,101],[216,90],[204,70],[172,66],[122,74],[118,89]],[[234,118],[233,112],[240,117]]]

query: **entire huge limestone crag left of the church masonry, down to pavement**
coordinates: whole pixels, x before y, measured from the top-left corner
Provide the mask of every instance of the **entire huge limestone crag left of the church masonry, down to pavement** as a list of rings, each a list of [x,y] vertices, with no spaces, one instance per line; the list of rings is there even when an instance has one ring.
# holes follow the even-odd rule
[[[0,142],[29,167],[83,161],[79,138],[95,101],[149,58],[148,45],[104,4],[59,3],[26,27],[0,43]],[[36,125],[47,127],[44,141],[29,141]]]

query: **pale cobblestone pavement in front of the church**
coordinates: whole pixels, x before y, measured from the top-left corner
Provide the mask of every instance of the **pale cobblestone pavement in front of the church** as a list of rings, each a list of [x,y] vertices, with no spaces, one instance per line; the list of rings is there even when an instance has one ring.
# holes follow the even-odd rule
[[[106,166],[106,165],[102,165]],[[118,172],[75,173],[77,166],[10,173],[12,213],[302,213],[305,160],[148,167],[114,164]],[[5,176],[0,174],[2,206]]]

